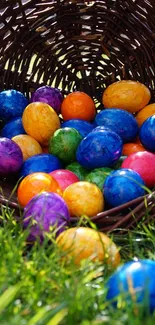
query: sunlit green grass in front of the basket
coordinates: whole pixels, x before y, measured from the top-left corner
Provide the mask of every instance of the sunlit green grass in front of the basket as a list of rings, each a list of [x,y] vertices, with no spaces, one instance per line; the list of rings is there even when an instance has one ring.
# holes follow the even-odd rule
[[[65,266],[54,239],[42,246],[26,244],[23,231],[9,211],[0,217],[1,325],[152,325],[155,315],[106,301],[105,281],[112,272],[104,264],[84,262]],[[114,235],[122,263],[134,258],[155,259],[154,225],[125,236]],[[154,275],[153,275],[154,276]]]

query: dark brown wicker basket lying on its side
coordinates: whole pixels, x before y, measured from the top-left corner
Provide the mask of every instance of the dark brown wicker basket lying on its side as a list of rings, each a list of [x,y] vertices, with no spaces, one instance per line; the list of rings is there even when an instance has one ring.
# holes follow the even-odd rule
[[[103,90],[120,79],[145,83],[155,100],[154,0],[1,0],[0,90],[30,97],[41,85],[81,90],[102,109]],[[14,180],[0,202],[19,212]],[[155,192],[92,219],[102,231],[155,217]],[[76,219],[73,219],[73,223]]]

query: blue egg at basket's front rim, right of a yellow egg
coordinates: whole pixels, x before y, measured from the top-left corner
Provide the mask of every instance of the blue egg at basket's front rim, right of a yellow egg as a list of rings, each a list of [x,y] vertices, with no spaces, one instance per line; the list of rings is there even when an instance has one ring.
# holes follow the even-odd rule
[[[114,170],[104,182],[105,201],[110,207],[127,203],[145,194],[144,185],[137,172],[127,168]]]

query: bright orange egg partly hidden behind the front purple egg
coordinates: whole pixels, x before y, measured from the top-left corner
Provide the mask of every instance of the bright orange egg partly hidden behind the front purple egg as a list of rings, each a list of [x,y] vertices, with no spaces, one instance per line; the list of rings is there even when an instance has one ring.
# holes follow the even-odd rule
[[[61,189],[54,177],[46,173],[33,173],[26,176],[18,186],[17,197],[22,207],[41,192],[54,192],[62,194]]]

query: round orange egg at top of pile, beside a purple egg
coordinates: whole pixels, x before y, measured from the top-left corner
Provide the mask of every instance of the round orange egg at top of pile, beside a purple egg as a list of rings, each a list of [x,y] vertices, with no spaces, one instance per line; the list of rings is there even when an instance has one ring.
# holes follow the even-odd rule
[[[96,108],[91,97],[83,92],[76,91],[63,100],[61,114],[64,121],[72,119],[92,121],[96,114]]]

